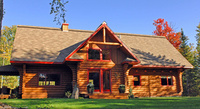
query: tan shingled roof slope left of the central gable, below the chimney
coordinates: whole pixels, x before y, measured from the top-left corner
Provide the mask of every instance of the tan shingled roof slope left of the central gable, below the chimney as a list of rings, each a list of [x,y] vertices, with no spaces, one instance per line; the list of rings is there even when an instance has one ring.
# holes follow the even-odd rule
[[[14,61],[62,63],[93,31],[17,26],[11,55]]]

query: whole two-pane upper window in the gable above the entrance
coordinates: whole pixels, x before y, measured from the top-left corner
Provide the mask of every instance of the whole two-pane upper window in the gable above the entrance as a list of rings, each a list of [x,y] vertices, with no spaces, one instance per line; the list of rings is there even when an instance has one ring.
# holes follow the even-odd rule
[[[90,60],[110,60],[110,50],[108,49],[88,49],[88,59]]]

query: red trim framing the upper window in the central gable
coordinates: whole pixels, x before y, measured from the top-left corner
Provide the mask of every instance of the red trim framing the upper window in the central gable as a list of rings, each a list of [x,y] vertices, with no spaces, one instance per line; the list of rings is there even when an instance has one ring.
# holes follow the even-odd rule
[[[97,59],[89,59],[89,53],[88,53],[88,51],[89,51],[89,49],[93,49],[93,50],[99,50],[100,51],[100,59],[99,60],[97,60]],[[109,60],[103,60],[103,54],[102,54],[102,51],[103,50],[109,50],[110,51],[110,54],[109,54],[109,57],[110,57],[110,59]],[[103,62],[109,62],[109,61],[111,61],[111,50],[110,49],[108,49],[108,48],[93,48],[93,47],[87,47],[87,60],[88,61],[103,61]]]

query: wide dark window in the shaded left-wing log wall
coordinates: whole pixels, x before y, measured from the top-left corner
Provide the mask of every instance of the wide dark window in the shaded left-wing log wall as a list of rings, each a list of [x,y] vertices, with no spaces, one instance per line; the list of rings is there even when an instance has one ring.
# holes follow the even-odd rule
[[[39,86],[58,86],[60,85],[60,74],[39,74]]]

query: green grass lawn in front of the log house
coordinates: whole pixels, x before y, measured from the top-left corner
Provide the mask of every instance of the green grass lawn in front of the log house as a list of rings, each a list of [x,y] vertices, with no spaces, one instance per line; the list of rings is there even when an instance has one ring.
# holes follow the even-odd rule
[[[127,100],[108,99],[5,99],[0,102],[28,108],[130,108],[130,109],[200,109],[200,97],[157,97]]]

